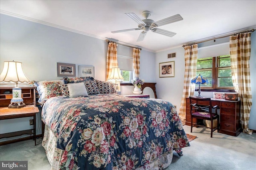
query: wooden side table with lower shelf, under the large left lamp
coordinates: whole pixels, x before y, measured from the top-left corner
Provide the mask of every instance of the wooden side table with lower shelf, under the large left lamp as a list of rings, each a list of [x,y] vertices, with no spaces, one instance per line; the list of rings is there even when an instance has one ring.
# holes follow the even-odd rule
[[[36,146],[36,113],[38,112],[39,112],[38,107],[34,107],[34,106],[26,106],[20,109],[8,109],[8,107],[1,107],[0,120],[16,119],[16,118],[22,118],[22,117],[33,117],[34,123],[33,123],[33,129],[0,134],[0,139],[20,136],[22,134],[32,134],[33,139],[35,141],[35,146]],[[16,142],[16,141],[14,140],[13,142]],[[13,142],[10,142],[10,143],[13,143]],[[4,143],[6,142],[0,142],[0,145],[4,145]]]

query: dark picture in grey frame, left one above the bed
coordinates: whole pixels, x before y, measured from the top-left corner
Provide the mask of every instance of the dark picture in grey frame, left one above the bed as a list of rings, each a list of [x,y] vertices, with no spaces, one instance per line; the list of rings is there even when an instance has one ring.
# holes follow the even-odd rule
[[[67,63],[57,63],[58,77],[76,77],[76,65]]]

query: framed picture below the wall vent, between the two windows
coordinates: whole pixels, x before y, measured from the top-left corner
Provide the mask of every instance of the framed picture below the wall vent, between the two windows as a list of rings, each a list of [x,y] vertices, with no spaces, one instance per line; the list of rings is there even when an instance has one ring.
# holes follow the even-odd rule
[[[159,63],[159,77],[174,77],[174,61]]]

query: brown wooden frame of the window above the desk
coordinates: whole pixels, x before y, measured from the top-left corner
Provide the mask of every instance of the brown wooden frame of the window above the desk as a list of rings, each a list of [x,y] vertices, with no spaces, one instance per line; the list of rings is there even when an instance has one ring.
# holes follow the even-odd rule
[[[223,56],[223,55],[221,55]],[[196,71],[202,71],[202,70],[209,70],[212,69],[212,87],[205,87],[205,86],[200,86],[201,91],[217,91],[217,92],[235,92],[234,87],[218,87],[218,70],[223,69],[223,68],[230,68],[230,66],[225,66],[225,67],[220,67],[220,57],[221,56],[214,56],[212,58],[212,68],[205,68],[205,69],[197,69]],[[230,57],[230,56],[226,56]],[[208,57],[205,57],[208,58]],[[223,57],[222,57],[223,58]],[[200,58],[202,59],[204,58]],[[198,62],[198,61],[197,61]],[[198,86],[196,86],[196,91],[198,91]]]

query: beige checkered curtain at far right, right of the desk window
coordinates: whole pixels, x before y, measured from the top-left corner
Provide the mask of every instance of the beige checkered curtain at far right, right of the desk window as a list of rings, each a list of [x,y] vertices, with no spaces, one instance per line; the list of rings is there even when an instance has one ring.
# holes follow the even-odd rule
[[[230,36],[230,59],[233,85],[241,99],[240,122],[243,132],[252,134],[248,123],[252,106],[250,80],[251,33]]]

